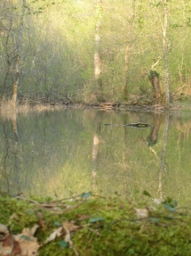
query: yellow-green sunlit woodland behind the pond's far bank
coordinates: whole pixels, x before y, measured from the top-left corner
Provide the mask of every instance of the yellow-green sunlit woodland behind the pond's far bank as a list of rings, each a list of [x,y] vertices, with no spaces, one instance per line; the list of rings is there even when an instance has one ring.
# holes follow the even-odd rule
[[[162,98],[187,100],[190,27],[188,0],[2,0],[0,96],[152,103],[155,70]]]

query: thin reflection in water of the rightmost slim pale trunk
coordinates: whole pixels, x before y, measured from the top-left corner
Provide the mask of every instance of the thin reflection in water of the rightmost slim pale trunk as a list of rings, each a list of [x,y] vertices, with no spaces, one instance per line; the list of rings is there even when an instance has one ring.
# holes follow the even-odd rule
[[[169,129],[169,113],[167,113],[165,115],[165,129],[164,129],[164,136],[163,136],[163,151],[162,151],[162,157],[161,157],[161,166],[160,166],[160,170],[159,170],[158,192],[159,192],[161,198],[163,198],[162,178],[163,178],[163,171],[164,171],[164,168],[165,168],[165,155],[166,155],[166,145],[167,145],[167,139],[168,139],[168,129]]]

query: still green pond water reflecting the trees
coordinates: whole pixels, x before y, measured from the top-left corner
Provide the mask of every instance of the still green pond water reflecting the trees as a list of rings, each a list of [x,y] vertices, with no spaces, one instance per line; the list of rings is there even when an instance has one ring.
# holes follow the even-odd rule
[[[124,126],[142,122],[149,126]],[[191,194],[190,130],[189,112],[68,109],[1,119],[0,191],[134,198],[147,190],[185,204]]]

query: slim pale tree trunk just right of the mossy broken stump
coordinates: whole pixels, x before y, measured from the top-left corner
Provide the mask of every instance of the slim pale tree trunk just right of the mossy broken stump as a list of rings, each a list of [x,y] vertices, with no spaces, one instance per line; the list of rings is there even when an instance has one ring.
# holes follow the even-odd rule
[[[168,49],[167,49],[167,27],[168,27],[168,5],[167,0],[163,0],[163,60],[165,69],[165,90],[166,90],[166,108],[170,105],[170,93],[169,93],[169,68],[168,68]]]

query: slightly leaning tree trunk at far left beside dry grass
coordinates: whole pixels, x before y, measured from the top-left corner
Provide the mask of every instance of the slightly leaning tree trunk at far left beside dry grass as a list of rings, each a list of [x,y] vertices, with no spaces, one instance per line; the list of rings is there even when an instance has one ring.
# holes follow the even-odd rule
[[[22,33],[23,33],[23,21],[24,21],[24,15],[25,15],[25,8],[26,8],[26,0],[23,0],[22,10],[20,14],[19,42],[17,45],[17,53],[16,53],[16,60],[15,60],[15,78],[14,78],[13,93],[12,93],[12,106],[14,108],[17,105],[18,86],[19,86],[19,79],[20,79],[20,52],[21,52],[21,45],[22,45]]]

